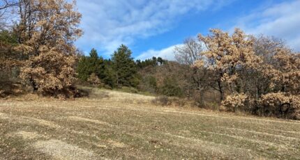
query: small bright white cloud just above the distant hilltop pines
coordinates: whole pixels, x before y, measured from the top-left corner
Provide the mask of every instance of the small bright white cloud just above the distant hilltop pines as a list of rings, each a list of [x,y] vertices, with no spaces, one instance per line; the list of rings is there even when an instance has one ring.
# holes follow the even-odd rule
[[[152,58],[153,56],[156,57],[161,57],[163,59],[167,59],[169,61],[174,61],[174,49],[175,47],[179,47],[180,45],[173,45],[170,47],[167,47],[165,49],[160,49],[160,50],[154,50],[154,49],[149,49],[148,51],[144,51],[140,56],[137,56],[135,59],[140,59],[140,60],[145,60]]]

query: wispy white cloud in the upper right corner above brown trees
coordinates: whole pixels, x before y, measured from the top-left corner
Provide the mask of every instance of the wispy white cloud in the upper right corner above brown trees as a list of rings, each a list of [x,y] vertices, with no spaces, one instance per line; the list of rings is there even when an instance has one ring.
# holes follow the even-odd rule
[[[285,1],[239,18],[236,26],[250,34],[272,35],[300,51],[300,1]]]

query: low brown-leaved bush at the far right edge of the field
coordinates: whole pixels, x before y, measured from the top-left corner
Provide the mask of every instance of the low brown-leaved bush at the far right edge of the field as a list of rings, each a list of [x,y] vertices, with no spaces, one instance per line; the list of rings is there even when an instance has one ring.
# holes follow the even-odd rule
[[[300,97],[287,93],[269,93],[262,95],[256,113],[300,120]]]

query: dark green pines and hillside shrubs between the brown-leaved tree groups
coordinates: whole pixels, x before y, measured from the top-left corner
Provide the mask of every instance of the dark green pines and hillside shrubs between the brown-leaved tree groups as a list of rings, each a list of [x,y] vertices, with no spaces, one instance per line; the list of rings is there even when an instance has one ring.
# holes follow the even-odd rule
[[[121,45],[112,57],[104,59],[91,49],[89,56],[80,55],[76,66],[81,83],[100,88],[130,88],[133,92],[181,96],[182,90],[171,77],[163,73],[172,63],[163,58],[134,60],[132,51]]]

